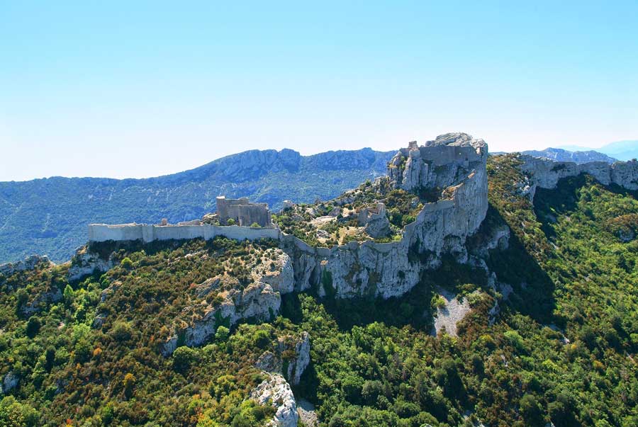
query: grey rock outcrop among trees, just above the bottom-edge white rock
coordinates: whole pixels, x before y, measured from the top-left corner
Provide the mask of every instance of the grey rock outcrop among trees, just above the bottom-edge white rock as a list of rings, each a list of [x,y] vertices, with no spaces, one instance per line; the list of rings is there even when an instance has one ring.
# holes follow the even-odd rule
[[[310,363],[310,336],[302,332],[300,336],[280,337],[276,353],[266,351],[255,363],[257,368],[270,373],[282,373],[292,385],[298,385],[303,371]]]

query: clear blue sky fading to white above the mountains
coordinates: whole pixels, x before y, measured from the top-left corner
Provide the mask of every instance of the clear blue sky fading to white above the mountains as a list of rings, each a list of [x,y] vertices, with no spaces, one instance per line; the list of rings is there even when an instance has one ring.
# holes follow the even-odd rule
[[[0,0],[0,181],[638,139],[638,1]]]

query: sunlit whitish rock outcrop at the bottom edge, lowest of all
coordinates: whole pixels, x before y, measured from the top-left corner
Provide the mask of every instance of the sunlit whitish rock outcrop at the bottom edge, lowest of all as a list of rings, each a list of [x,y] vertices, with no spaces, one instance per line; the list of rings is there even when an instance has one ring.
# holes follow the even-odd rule
[[[272,405],[276,410],[267,426],[296,427],[299,416],[290,385],[281,374],[264,372],[264,375],[267,375],[267,379],[250,392],[250,399],[254,399],[260,405]]]

